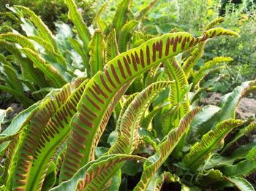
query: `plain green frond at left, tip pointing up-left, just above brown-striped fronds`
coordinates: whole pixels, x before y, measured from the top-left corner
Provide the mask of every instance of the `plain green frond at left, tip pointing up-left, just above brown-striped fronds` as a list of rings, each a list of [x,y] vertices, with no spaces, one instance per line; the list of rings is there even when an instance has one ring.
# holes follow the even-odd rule
[[[53,82],[54,87],[62,87],[67,83],[64,77],[59,74],[59,71],[51,66],[50,63],[47,63],[47,61],[45,61],[39,54],[37,54],[37,52],[34,52],[29,48],[23,48],[21,51],[26,54],[26,56],[28,56],[31,61],[34,62],[34,65],[37,66],[45,74],[45,77]]]

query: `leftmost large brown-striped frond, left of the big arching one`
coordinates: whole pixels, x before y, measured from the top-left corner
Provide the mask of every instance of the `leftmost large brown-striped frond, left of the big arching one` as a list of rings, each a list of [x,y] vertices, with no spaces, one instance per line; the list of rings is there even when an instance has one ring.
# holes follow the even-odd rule
[[[15,149],[15,154],[12,157],[12,162],[9,168],[9,175],[7,179],[7,187],[10,190],[15,189],[26,189],[30,187],[29,176],[32,168],[33,160],[37,157],[37,147],[43,147],[44,145],[40,142],[40,138],[44,129],[48,123],[50,117],[53,116],[56,109],[58,109],[67,100],[70,95],[69,84],[63,87],[60,92],[54,95],[54,98],[46,98],[38,106],[34,116],[29,121],[20,133],[19,144]],[[48,133],[50,133],[48,131]],[[50,135],[52,135],[50,133]],[[44,141],[47,141],[47,137],[42,136]],[[45,142],[44,142],[45,143]],[[40,165],[39,165],[40,166]]]

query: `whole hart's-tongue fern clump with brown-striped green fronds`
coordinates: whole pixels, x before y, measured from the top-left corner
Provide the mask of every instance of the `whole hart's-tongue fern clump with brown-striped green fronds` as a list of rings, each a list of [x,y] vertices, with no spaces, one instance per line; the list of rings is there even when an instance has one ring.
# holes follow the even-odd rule
[[[214,109],[194,107],[188,96],[196,89],[189,85],[189,77],[199,82],[211,66],[217,66],[212,61],[197,75],[193,71],[206,41],[238,34],[214,28],[217,20],[198,37],[186,32],[151,36],[138,31],[129,39],[156,2],[130,20],[131,1],[121,1],[112,25],[106,26],[98,15],[99,29],[91,36],[75,2],[66,0],[80,39],[70,37],[68,41],[86,69],[80,71],[81,77],[73,76],[75,68],[55,39],[60,36],[54,37],[26,7],[11,8],[27,24],[34,23],[32,31],[37,35],[1,34],[3,44],[14,47],[19,55],[16,59],[26,60],[23,71],[38,69],[45,80],[39,82],[56,88],[21,112],[1,133],[0,153],[5,157],[1,190],[118,190],[125,187],[128,173],[124,169],[131,163],[143,163],[143,170],[135,171],[142,173],[135,190],[159,190],[164,182],[172,181],[191,187],[189,178],[202,189],[212,187],[201,185],[203,179],[224,182],[223,187],[232,184],[252,189],[242,175],[255,170],[255,148],[249,149],[238,166],[237,160],[222,166],[211,164],[227,133],[246,124],[236,120],[234,113],[241,98],[255,90],[255,81],[245,82]],[[45,52],[39,51],[38,44]],[[241,129],[238,138],[248,129]],[[222,152],[228,147],[225,143]],[[247,169],[236,171],[241,165]]]

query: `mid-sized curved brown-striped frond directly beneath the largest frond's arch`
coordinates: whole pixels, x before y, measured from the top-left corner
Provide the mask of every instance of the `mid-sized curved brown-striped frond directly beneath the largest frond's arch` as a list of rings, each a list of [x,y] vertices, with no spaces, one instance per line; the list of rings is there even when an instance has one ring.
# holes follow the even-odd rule
[[[167,85],[170,85],[170,82],[155,82],[146,87],[135,97],[121,117],[121,136],[119,136],[118,141],[110,147],[108,153],[129,155],[135,147],[138,146],[140,118],[151,104],[151,101],[156,98],[158,93],[164,90]]]

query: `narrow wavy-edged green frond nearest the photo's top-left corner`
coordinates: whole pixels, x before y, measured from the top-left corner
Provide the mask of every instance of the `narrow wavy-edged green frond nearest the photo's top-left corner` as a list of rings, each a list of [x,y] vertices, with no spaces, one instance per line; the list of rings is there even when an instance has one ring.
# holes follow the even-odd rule
[[[53,37],[53,34],[51,33],[50,29],[45,25],[45,23],[42,22],[41,18],[38,17],[36,14],[34,14],[34,12],[32,12],[27,7],[15,6],[15,8],[18,8],[21,12],[23,12],[24,15],[29,16],[30,20],[37,27],[39,36],[41,36],[42,39],[52,44],[54,47],[54,50],[56,52],[59,52],[58,46],[57,46],[56,40]]]

